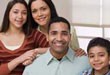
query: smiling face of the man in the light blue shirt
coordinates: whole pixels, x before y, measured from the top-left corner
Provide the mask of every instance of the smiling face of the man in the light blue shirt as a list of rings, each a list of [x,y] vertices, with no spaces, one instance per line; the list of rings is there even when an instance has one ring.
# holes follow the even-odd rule
[[[66,23],[56,22],[50,26],[48,40],[51,51],[56,53],[67,51],[70,39],[71,35]]]

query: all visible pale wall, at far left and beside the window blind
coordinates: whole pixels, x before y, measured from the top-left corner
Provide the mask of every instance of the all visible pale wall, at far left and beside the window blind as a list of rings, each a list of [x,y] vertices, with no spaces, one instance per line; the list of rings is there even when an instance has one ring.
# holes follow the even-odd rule
[[[26,0],[26,1],[28,2],[28,0]],[[60,16],[67,18],[70,22],[72,22],[72,12],[71,12],[72,0],[65,0],[65,1],[52,0],[52,1],[55,4],[58,14]],[[2,22],[4,11],[6,9],[8,2],[9,2],[9,0],[2,0],[2,2],[0,2],[0,24]]]

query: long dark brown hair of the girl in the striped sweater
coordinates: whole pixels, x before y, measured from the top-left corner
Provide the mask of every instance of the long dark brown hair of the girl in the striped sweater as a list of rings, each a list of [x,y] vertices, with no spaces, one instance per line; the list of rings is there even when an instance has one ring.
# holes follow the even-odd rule
[[[23,25],[23,32],[25,33],[25,35],[29,35],[30,31],[31,31],[31,25],[29,23],[29,18],[28,18],[28,5],[27,5],[25,0],[11,0],[11,1],[9,1],[9,3],[6,7],[6,10],[5,10],[5,14],[4,14],[4,18],[3,18],[3,22],[2,22],[0,32],[7,32],[7,30],[9,29],[9,24],[10,24],[10,22],[9,22],[9,13],[10,13],[10,10],[12,9],[12,7],[16,3],[23,4],[27,9],[27,21]]]

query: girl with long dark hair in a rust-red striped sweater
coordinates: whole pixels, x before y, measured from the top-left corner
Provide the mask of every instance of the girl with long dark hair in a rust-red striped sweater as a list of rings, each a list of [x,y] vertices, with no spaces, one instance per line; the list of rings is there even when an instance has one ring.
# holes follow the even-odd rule
[[[0,31],[0,75],[22,75],[24,63],[34,60],[38,47],[47,47],[44,34],[32,30],[25,0],[9,1]]]

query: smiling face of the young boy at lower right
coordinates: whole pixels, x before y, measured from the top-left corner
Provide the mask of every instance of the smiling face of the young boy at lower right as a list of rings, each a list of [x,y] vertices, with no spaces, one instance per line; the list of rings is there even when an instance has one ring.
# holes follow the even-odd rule
[[[88,55],[90,64],[95,70],[104,71],[108,69],[110,57],[106,51],[106,48],[94,46],[90,48]]]

